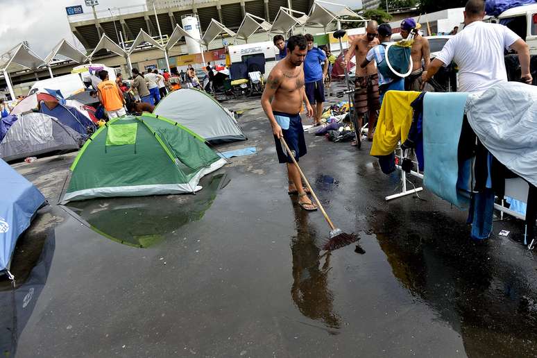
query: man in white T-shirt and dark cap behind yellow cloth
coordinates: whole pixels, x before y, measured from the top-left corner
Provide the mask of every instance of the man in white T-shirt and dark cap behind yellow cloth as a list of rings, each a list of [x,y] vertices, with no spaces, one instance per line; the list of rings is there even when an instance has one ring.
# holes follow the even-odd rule
[[[380,45],[375,46],[368,51],[366,59],[361,62],[360,67],[363,69],[366,68],[373,60],[377,63],[380,104],[382,105],[384,94],[389,90],[404,91],[404,78],[395,75],[386,62],[386,46],[390,42],[391,37],[390,25],[382,24],[377,28],[377,31]]]

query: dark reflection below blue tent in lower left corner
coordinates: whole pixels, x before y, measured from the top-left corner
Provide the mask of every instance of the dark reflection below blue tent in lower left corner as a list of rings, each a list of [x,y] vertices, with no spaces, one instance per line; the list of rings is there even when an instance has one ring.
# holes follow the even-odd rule
[[[15,282],[0,281],[0,352],[2,357],[15,356],[19,336],[28,323],[37,298],[49,277],[56,248],[54,230],[37,233],[37,235],[32,232],[32,234],[28,235],[27,232],[17,242],[10,270],[15,275]]]

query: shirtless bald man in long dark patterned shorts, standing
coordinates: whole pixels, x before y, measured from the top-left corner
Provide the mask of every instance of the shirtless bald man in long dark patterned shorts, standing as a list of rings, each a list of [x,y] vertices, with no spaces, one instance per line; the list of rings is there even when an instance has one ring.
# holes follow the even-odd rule
[[[346,66],[352,56],[356,56],[356,80],[355,80],[355,108],[358,116],[358,126],[364,123],[364,114],[368,113],[368,133],[367,139],[373,141],[373,129],[377,123],[377,110],[380,110],[379,76],[374,62],[370,62],[365,68],[360,64],[366,59],[370,49],[380,44],[377,39],[378,24],[372,20],[368,22],[366,33],[355,37],[350,42],[349,51],[343,59],[343,66]],[[358,137],[359,140],[359,137]],[[353,142],[359,146],[359,143]]]

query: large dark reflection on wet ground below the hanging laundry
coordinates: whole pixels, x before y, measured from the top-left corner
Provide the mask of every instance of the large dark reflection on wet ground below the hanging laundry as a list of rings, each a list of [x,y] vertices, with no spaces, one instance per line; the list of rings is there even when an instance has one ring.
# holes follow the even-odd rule
[[[473,245],[448,216],[376,214],[373,230],[393,275],[459,332],[469,357],[535,357],[533,259],[509,254],[518,248]],[[418,217],[419,229],[404,225]]]

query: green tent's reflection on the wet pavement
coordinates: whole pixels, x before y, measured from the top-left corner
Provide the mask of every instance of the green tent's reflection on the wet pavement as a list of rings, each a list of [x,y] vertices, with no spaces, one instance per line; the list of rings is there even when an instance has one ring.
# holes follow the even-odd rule
[[[203,218],[216,193],[230,179],[225,173],[205,177],[196,195],[137,196],[75,201],[67,207],[104,237],[128,246],[148,248],[181,226]]]

